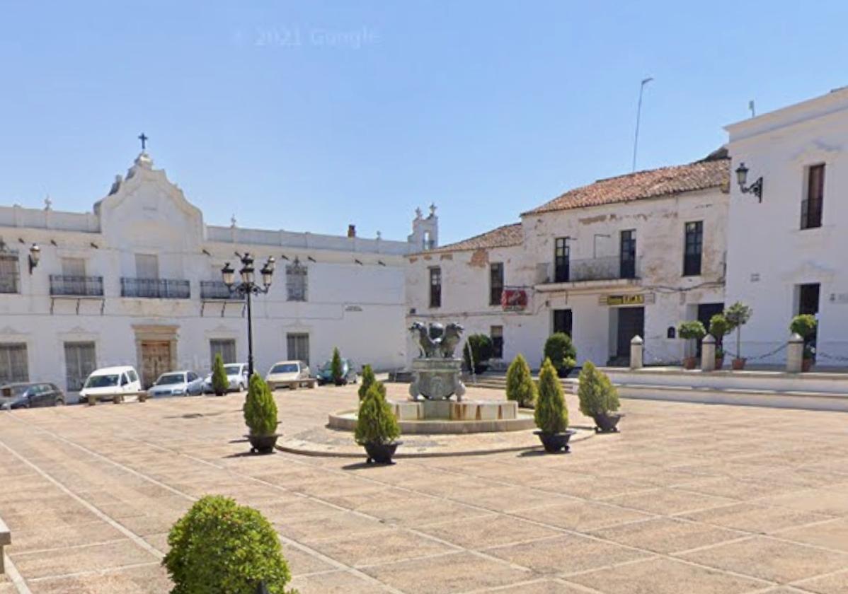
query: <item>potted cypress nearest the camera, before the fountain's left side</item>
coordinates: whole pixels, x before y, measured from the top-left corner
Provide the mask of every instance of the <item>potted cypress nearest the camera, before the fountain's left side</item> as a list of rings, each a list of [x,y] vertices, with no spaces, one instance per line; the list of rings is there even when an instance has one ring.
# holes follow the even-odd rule
[[[396,441],[400,436],[398,419],[383,396],[385,388],[381,391],[380,386],[382,384],[377,382],[368,388],[356,418],[354,439],[365,447],[368,464],[392,464],[394,452],[400,445],[400,441]]]

